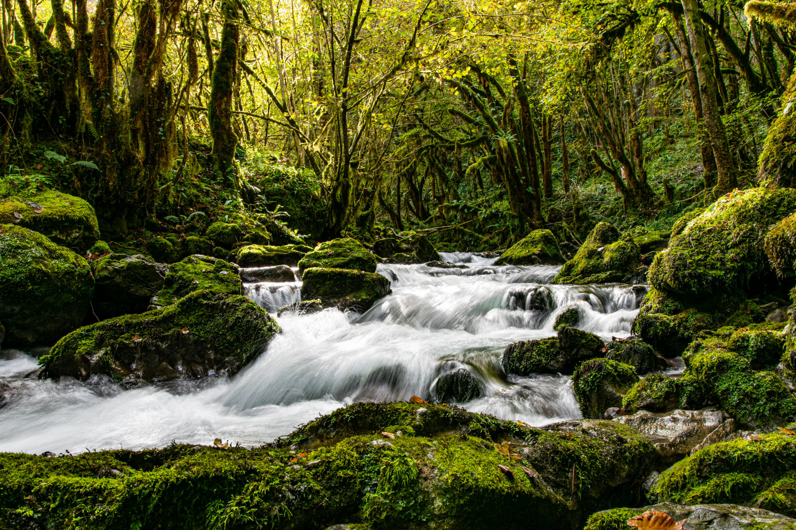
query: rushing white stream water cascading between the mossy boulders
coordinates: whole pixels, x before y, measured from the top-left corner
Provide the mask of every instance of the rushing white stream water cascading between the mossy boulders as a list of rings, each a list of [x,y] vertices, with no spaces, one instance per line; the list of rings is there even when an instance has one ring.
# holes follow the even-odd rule
[[[556,315],[573,304],[581,308],[579,327],[606,340],[629,335],[644,289],[551,285],[557,267],[498,267],[494,257],[470,253],[442,257],[469,268],[379,265],[392,295],[364,315],[283,314],[283,333],[229,380],[134,390],[104,377],[39,381],[26,377],[35,358],[6,350],[0,381],[10,389],[0,403],[0,451],[135,449],[214,438],[254,445],[353,401],[427,397],[436,378],[456,367],[482,386],[483,397],[462,404],[469,410],[535,425],[579,417],[569,377],[507,377],[502,350],[555,335]],[[300,284],[245,284],[244,292],[275,312],[300,299]]]

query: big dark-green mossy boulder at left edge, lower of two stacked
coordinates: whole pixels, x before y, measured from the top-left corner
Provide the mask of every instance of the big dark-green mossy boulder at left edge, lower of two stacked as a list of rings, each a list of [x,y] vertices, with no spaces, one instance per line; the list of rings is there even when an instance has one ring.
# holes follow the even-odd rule
[[[3,345],[50,346],[83,322],[94,292],[88,262],[38,232],[0,225]]]

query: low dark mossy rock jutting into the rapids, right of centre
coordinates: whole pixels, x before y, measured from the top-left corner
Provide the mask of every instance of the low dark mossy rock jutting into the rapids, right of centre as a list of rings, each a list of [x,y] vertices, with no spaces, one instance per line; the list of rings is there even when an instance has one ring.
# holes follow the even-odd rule
[[[574,327],[561,327],[556,337],[513,342],[501,355],[505,373],[572,373],[586,359],[599,355],[605,344],[597,335]]]

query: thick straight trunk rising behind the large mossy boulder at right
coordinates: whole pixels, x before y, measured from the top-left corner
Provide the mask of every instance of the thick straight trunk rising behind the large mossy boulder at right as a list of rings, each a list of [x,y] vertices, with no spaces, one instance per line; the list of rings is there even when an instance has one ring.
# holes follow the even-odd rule
[[[696,78],[699,81],[704,123],[710,136],[713,156],[716,158],[716,191],[723,195],[738,186],[738,177],[727,142],[727,133],[724,131],[724,123],[721,122],[719,113],[713,57],[708,49],[707,35],[700,19],[699,0],[681,0],[681,2],[696,66]]]

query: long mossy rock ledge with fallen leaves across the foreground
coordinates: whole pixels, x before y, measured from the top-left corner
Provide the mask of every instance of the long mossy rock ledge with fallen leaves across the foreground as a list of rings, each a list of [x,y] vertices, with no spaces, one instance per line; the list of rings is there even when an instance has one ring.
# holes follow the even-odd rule
[[[503,442],[514,458],[495,449]],[[65,528],[79,516],[87,530],[571,530],[595,510],[640,502],[653,459],[645,438],[610,421],[538,429],[454,406],[359,403],[254,449],[2,454],[0,510],[17,527]]]

